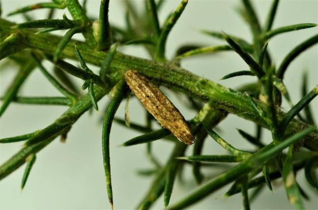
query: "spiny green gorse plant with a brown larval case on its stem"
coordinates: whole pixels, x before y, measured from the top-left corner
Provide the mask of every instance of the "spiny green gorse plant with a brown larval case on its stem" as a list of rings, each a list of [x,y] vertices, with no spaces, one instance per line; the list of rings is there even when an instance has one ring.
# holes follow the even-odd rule
[[[284,74],[289,64],[302,52],[318,42],[318,35],[300,42],[283,61],[275,66],[267,50],[269,40],[274,36],[295,30],[317,26],[316,23],[304,23],[272,29],[278,7],[278,0],[273,0],[264,26],[261,26],[249,0],[242,0],[240,14],[247,21],[253,36],[249,43],[243,38],[226,32],[203,30],[202,33],[224,40],[227,44],[217,46],[184,45],[177,50],[172,60],[166,57],[166,41],[171,29],[186,12],[188,0],[181,0],[179,6],[162,23],[158,11],[164,0],[144,0],[145,10],[138,13],[126,1],[126,27],[120,28],[109,23],[108,7],[110,0],[100,1],[99,18],[91,19],[86,14],[86,1],[52,0],[28,5],[9,15],[23,14],[27,19],[23,23],[13,23],[0,19],[0,59],[12,59],[20,66],[20,71],[11,86],[2,97],[0,115],[3,115],[11,102],[40,105],[68,106],[68,110],[49,126],[33,133],[2,138],[0,143],[25,141],[23,148],[0,166],[0,179],[14,172],[26,163],[22,179],[25,186],[36,153],[43,150],[56,137],[65,141],[72,125],[91,107],[98,110],[97,101],[109,95],[111,101],[103,119],[102,152],[106,177],[108,199],[113,208],[113,191],[110,157],[110,132],[113,122],[122,124],[141,133],[122,144],[128,147],[146,144],[148,157],[154,164],[154,170],[144,174],[154,176],[154,181],[141,200],[138,209],[149,209],[161,194],[164,207],[169,210],[187,208],[204,197],[219,190],[228,183],[233,183],[226,196],[242,193],[244,209],[250,209],[250,202],[261,188],[267,185],[272,191],[271,182],[282,177],[288,199],[295,209],[304,209],[304,192],[295,180],[296,173],[304,169],[308,184],[318,193],[318,180],[315,170],[318,166],[318,130],[315,117],[309,103],[318,95],[318,86],[307,90],[306,76],[302,87],[303,97],[295,104],[284,85]],[[25,12],[40,8],[50,8],[47,19],[29,19]],[[68,9],[72,16],[63,15],[62,19],[52,19],[54,10]],[[63,37],[49,32],[67,30]],[[81,33],[85,41],[72,39]],[[153,60],[127,56],[118,51],[125,45],[145,47]],[[119,48],[118,48],[119,47]],[[255,76],[257,82],[246,84],[238,90],[232,90],[213,81],[196,76],[181,68],[180,60],[201,54],[213,54],[222,51],[235,51],[250,67],[249,71],[238,71],[224,76]],[[68,63],[65,58],[77,60],[80,68]],[[55,66],[55,76],[51,75],[42,64],[51,61]],[[99,75],[91,71],[86,63],[100,67]],[[39,68],[47,80],[61,92],[63,97],[26,97],[18,95],[21,86],[30,73]],[[69,76],[84,80],[82,89],[88,93],[81,95]],[[185,121],[178,109],[164,96],[159,86],[165,86],[187,95],[190,109],[197,115]],[[132,93],[131,93],[132,92]],[[146,126],[130,122],[129,98],[136,96],[148,113]],[[120,103],[126,100],[125,119],[115,117]],[[281,101],[286,100],[291,108],[284,112]],[[300,113],[304,110],[304,113]],[[238,130],[254,150],[244,151],[230,145],[213,128],[227,117],[227,113],[238,115],[257,124],[256,136]],[[317,118],[317,117],[316,117]],[[163,128],[153,130],[151,123],[158,120]],[[262,129],[272,133],[272,142],[264,144],[261,139]],[[228,154],[202,155],[204,139],[211,136]],[[193,137],[195,137],[194,145]],[[166,139],[174,143],[174,149],[167,163],[163,166],[152,155],[151,142]],[[177,139],[181,140],[178,141]],[[189,148],[192,147],[192,148]],[[288,148],[287,153],[283,152]],[[192,156],[184,156],[187,149],[193,150]],[[297,155],[301,152],[301,155]],[[205,180],[201,167],[208,163],[236,163],[212,179]],[[199,185],[179,202],[170,205],[169,200],[177,174],[182,173],[184,164],[191,164],[193,176]],[[260,174],[261,173],[261,174]],[[260,175],[258,175],[260,174]],[[248,190],[254,188],[250,196]]]

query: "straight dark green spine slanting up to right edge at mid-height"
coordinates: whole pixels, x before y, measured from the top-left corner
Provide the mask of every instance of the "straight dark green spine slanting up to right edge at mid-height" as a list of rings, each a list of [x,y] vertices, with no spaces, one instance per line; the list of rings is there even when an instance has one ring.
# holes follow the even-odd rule
[[[280,129],[285,132],[290,121],[297,115],[310,101],[318,95],[318,86],[316,86],[307,95],[302,97],[300,101],[288,112],[280,121]]]

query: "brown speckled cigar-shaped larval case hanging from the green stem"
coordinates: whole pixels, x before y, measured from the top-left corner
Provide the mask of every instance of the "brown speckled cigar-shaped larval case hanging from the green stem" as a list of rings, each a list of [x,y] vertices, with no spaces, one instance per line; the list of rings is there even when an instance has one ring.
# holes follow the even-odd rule
[[[195,138],[182,114],[149,79],[129,70],[125,73],[125,80],[146,110],[163,128],[168,129],[185,144],[194,143]]]

